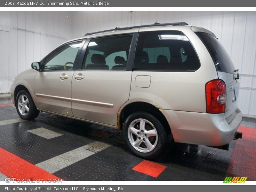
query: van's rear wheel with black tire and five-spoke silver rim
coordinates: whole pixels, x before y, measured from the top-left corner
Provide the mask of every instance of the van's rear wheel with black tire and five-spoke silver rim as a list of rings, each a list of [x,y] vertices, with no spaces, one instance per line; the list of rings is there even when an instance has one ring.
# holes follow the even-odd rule
[[[164,124],[145,111],[134,112],[124,121],[124,142],[132,153],[143,159],[159,156],[169,143],[169,135],[170,133],[164,129]]]

